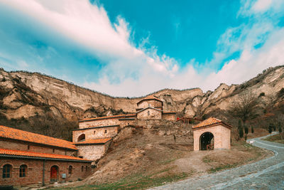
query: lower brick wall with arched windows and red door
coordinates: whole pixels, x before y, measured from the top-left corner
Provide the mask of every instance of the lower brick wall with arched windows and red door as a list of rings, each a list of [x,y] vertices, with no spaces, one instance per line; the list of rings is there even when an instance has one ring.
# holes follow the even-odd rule
[[[2,178],[3,167],[5,164],[11,164],[10,178]],[[25,177],[20,177],[20,166],[27,166]],[[58,181],[76,181],[84,179],[92,174],[91,163],[87,162],[70,162],[70,161],[45,161],[45,184],[50,184],[50,168],[58,166]],[[72,166],[72,173],[68,174],[68,168]],[[82,169],[83,167],[83,169]],[[87,171],[86,171],[87,167]],[[62,179],[62,174],[66,174],[66,179]],[[43,182],[43,160],[40,159],[16,159],[4,158],[0,159],[0,185],[24,186],[27,184],[42,184]]]

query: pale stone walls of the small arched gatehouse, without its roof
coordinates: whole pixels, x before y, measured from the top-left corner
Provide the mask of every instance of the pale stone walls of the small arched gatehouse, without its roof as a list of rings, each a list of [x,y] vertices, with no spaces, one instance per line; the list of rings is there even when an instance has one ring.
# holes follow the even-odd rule
[[[231,130],[222,125],[215,125],[193,130],[194,150],[200,150],[200,136],[204,132],[214,135],[214,149],[231,149]]]

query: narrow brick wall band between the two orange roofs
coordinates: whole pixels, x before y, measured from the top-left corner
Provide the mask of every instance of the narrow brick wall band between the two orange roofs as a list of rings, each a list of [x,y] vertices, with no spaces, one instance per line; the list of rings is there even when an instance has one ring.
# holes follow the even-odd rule
[[[57,147],[44,147],[40,145],[35,145],[28,142],[15,142],[8,139],[0,139],[0,148],[2,149],[15,149],[15,150],[23,150],[28,152],[41,152],[47,154],[61,154],[61,155],[73,155],[77,154],[76,150],[69,149],[60,149]]]

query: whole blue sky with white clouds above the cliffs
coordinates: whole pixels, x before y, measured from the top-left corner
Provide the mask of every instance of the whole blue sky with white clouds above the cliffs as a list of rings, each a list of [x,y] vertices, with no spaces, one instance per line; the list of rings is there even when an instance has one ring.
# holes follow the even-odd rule
[[[283,0],[0,0],[0,67],[115,97],[284,65]]]

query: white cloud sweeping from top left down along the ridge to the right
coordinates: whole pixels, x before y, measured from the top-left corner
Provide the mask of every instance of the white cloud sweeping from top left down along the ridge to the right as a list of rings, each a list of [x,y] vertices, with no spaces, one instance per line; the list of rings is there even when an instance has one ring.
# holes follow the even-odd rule
[[[130,97],[162,88],[214,90],[219,83],[241,83],[269,66],[284,64],[284,31],[273,20],[281,14],[275,7],[283,7],[281,1],[242,1],[239,16],[248,16],[251,21],[228,28],[220,36],[212,60],[198,63],[192,58],[185,68],[180,68],[175,58],[159,56],[157,47],[145,48],[150,43],[148,37],[137,48],[130,40],[131,26],[124,18],[119,16],[116,23],[111,23],[102,6],[87,0],[2,2],[76,41],[104,63],[100,73],[94,73],[99,81],[86,81],[84,87]],[[278,16],[274,18],[275,11],[271,10],[278,11]],[[263,46],[255,48],[259,43]],[[236,51],[241,52],[240,58],[228,60],[217,73],[209,69]],[[56,51],[50,49],[50,56],[53,53]],[[197,73],[196,65],[203,64],[207,68]]]

